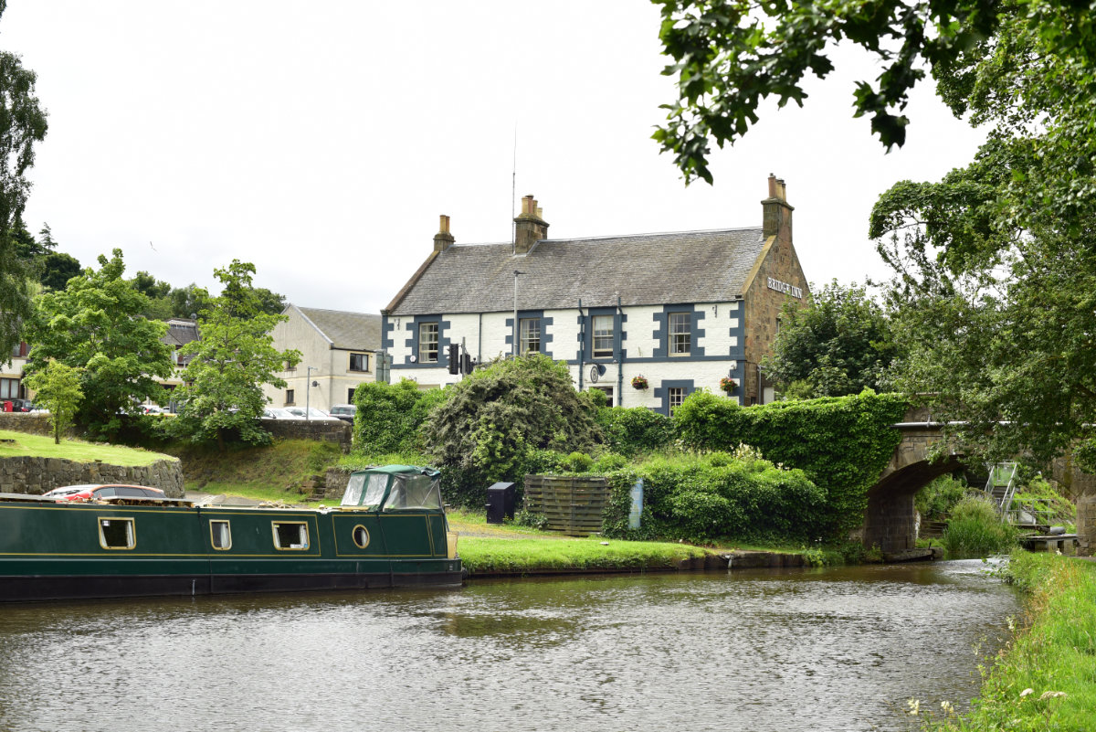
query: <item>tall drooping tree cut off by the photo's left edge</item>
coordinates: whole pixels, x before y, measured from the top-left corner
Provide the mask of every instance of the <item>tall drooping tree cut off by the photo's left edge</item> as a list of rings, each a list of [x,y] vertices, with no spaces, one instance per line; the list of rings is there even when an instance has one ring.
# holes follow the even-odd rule
[[[0,0],[0,16],[7,9]],[[34,144],[46,136],[46,113],[34,95],[34,71],[19,56],[0,52],[0,354],[11,353],[31,317],[31,273],[16,255],[16,235],[31,182]]]

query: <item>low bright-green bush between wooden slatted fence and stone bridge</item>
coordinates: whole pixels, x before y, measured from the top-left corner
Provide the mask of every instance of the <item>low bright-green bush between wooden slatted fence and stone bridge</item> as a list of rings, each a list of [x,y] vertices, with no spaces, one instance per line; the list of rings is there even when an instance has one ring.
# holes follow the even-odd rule
[[[778,468],[751,456],[727,461],[726,454],[657,458],[608,474],[606,536],[631,539],[813,540],[825,492],[801,470]],[[643,516],[628,528],[631,488],[643,481]]]

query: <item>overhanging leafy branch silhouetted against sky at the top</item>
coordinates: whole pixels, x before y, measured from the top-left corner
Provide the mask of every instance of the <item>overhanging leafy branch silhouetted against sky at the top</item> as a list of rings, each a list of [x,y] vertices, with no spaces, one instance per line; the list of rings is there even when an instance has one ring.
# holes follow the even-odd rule
[[[781,107],[788,102],[801,106],[807,98],[803,79],[808,73],[825,78],[834,69],[830,54],[838,41],[860,46],[882,66],[874,84],[857,83],[854,116],[870,117],[871,131],[888,149],[901,147],[910,122],[901,112],[910,90],[925,76],[922,62],[934,70],[951,64],[1000,22],[1000,7],[990,0],[824,7],[653,1],[662,5],[663,53],[673,59],[663,75],[677,78],[678,95],[663,105],[666,124],[654,139],[663,152],[674,155],[686,182],[701,178],[711,183],[709,140],[719,147],[733,145],[757,123],[763,100],[774,96]]]

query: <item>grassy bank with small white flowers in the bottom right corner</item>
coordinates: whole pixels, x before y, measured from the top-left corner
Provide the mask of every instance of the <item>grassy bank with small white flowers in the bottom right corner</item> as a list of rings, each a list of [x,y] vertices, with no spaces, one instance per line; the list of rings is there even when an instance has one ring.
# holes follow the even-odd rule
[[[939,710],[925,729],[1096,729],[1096,563],[1017,551],[1008,573],[1028,593],[1026,621],[983,668],[971,710]]]

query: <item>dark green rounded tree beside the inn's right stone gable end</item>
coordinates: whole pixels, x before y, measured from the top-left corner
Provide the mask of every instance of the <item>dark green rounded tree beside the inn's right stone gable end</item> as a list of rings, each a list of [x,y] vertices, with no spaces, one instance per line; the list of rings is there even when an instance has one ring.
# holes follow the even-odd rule
[[[762,366],[798,398],[887,390],[895,353],[890,323],[863,287],[833,281],[806,308],[788,305],[773,354]]]

